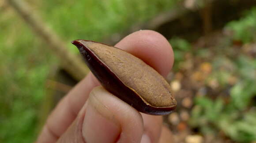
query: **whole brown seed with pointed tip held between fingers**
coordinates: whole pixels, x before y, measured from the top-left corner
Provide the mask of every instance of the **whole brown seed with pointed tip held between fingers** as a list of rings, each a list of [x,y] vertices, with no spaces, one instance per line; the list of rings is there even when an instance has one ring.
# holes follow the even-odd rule
[[[91,72],[110,93],[138,111],[163,115],[176,107],[166,80],[139,58],[113,46],[75,40]]]

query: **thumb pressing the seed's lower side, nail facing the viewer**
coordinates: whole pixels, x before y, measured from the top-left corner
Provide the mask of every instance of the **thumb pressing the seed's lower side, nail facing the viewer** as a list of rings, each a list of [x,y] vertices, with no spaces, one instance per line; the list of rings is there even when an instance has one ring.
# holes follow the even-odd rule
[[[58,143],[139,143],[142,134],[141,114],[102,87],[96,87]]]

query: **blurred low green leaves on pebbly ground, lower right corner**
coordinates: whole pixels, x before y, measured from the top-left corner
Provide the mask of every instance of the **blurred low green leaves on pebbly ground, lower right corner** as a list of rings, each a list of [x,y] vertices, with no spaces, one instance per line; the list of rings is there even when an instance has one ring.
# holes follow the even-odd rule
[[[222,130],[231,139],[238,142],[251,142],[256,139],[256,111],[237,111],[230,103],[225,105],[222,99],[215,101],[207,97],[197,97],[197,106],[192,110],[193,126],[199,126],[204,134],[217,134]]]

